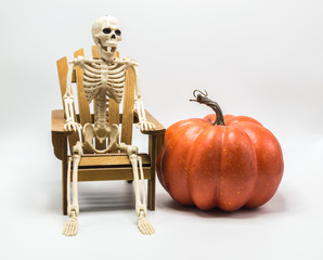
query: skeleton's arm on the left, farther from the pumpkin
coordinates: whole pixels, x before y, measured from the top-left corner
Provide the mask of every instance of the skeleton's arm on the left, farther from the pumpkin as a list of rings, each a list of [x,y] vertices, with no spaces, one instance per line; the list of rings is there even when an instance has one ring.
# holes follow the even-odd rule
[[[74,58],[69,62],[68,64],[68,72],[67,72],[67,78],[66,78],[66,92],[63,96],[64,100],[64,110],[65,110],[65,116],[66,116],[66,122],[64,125],[64,129],[68,130],[68,131],[77,131],[79,129],[81,129],[80,123],[75,121],[74,118],[74,99],[72,95],[72,75],[73,75],[73,70],[74,67],[76,65],[82,64],[82,58],[78,57],[78,58]]]

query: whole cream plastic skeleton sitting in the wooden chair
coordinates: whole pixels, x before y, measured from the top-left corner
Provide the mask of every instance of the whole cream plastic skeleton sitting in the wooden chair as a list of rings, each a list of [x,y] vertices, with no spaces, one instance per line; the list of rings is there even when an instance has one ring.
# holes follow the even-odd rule
[[[138,64],[131,58],[119,60],[115,52],[117,42],[121,40],[121,30],[119,22],[115,17],[104,16],[96,20],[92,26],[92,37],[98,47],[101,58],[92,60],[78,56],[69,62],[67,74],[67,88],[64,95],[66,123],[65,130],[78,131],[81,126],[75,121],[72,95],[72,75],[75,66],[83,70],[83,89],[88,103],[93,100],[98,105],[94,112],[94,126],[86,123],[82,129],[83,142],[78,141],[72,150],[72,157],[68,158],[67,172],[67,214],[69,219],[65,223],[63,233],[67,236],[74,236],[78,232],[79,204],[78,204],[78,165],[83,154],[83,148],[90,150],[98,154],[105,154],[111,151],[127,152],[133,171],[133,185],[135,195],[135,212],[138,216],[138,227],[143,234],[153,234],[154,227],[146,219],[146,198],[144,191],[144,178],[141,157],[138,156],[138,147],[119,143],[119,127],[109,125],[106,119],[106,107],[109,99],[120,103],[124,95],[126,81],[126,70],[131,67],[135,75],[135,105],[139,115],[141,130],[154,129],[155,126],[148,122],[145,117],[143,100],[141,98],[140,81],[138,75]],[[93,146],[93,138],[100,143],[108,140],[107,148],[96,150]],[[70,203],[70,167],[73,165],[73,186]],[[140,177],[139,177],[140,174]]]

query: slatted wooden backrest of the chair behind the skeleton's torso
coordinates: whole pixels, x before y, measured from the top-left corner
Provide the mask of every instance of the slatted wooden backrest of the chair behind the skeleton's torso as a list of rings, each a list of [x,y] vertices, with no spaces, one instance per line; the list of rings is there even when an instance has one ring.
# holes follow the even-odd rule
[[[117,53],[119,55],[119,53]],[[83,49],[80,49],[74,53],[74,56],[85,56]],[[93,58],[100,58],[100,54],[98,52],[96,46],[92,47],[92,57]],[[63,96],[66,92],[66,78],[67,78],[67,72],[68,72],[68,63],[67,57],[64,56],[61,60],[57,61],[57,70],[59,70],[59,78],[60,78],[60,86],[61,86],[61,94],[62,94],[62,101]],[[76,109],[74,107],[75,118],[77,118],[77,121],[80,122],[82,126],[87,122],[93,123],[94,116],[93,113],[94,108],[96,106],[95,102],[91,104],[88,104],[85,96],[83,91],[83,70],[76,66],[73,72],[73,79],[72,82],[76,83],[77,87],[77,95],[73,94],[75,98],[75,104],[76,100],[78,103],[78,112],[76,113]],[[135,88],[135,78],[134,78],[134,72],[132,68],[128,68],[126,72],[126,86],[125,86],[125,92],[124,92],[124,105],[122,105],[122,114],[119,113],[120,107],[117,102],[114,100],[108,101],[108,108],[107,108],[107,118],[109,125],[117,123],[121,125],[121,134],[120,134],[120,141],[126,144],[131,144],[132,142],[132,125],[133,125],[133,107],[134,107],[134,88]],[[76,99],[77,98],[77,99]],[[64,102],[63,102],[64,106]],[[91,106],[92,107],[91,109]],[[75,143],[81,140],[81,136],[76,132],[68,138],[69,147],[72,148]],[[95,140],[95,147],[99,150],[104,150],[106,147],[106,143],[99,143]],[[91,153],[90,151],[85,151],[86,153]]]

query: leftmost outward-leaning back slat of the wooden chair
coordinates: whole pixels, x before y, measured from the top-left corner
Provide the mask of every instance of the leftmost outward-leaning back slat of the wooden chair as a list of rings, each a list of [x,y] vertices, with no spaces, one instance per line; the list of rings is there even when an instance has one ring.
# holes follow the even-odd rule
[[[66,78],[67,78],[67,73],[68,73],[67,57],[66,56],[62,57],[61,60],[57,61],[56,64],[57,64],[57,72],[59,72],[59,78],[60,78],[62,102],[63,102],[63,107],[64,107],[65,105],[64,105],[63,96],[66,92]],[[74,105],[73,105],[73,109],[74,109],[74,118],[76,118],[76,113],[75,113],[75,106]],[[69,148],[70,150],[72,150],[73,145],[76,144],[77,141],[79,141],[78,132],[74,132],[73,134],[70,134],[68,136],[68,142],[69,142]]]

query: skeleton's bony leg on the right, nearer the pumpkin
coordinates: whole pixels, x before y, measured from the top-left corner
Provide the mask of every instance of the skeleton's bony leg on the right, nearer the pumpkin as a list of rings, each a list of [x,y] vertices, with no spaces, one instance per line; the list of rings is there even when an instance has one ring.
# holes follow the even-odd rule
[[[138,229],[142,234],[145,234],[145,235],[153,234],[155,233],[154,226],[146,219],[147,207],[146,207],[146,197],[145,197],[145,190],[144,190],[142,159],[140,156],[138,156],[137,146],[126,145],[121,143],[120,148],[127,151],[127,154],[132,165],[133,186],[134,186],[134,195],[135,195],[135,213],[138,216]],[[138,166],[140,170],[141,180],[139,180]],[[141,195],[142,195],[142,200],[141,200]]]

